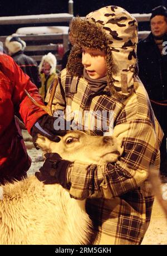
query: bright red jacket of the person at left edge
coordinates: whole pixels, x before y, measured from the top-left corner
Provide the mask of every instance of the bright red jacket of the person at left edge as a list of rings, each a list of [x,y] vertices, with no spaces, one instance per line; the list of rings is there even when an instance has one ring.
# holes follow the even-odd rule
[[[20,115],[28,132],[45,111],[32,104],[26,89],[42,104],[37,87],[13,59],[0,54],[0,183],[26,175],[31,160],[14,114]]]

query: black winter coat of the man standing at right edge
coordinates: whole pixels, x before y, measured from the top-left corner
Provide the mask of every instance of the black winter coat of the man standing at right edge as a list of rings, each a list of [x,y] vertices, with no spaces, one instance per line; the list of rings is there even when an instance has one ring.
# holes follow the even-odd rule
[[[167,41],[167,35],[164,41]],[[167,55],[161,55],[152,33],[137,45],[137,59],[139,78],[149,98],[163,103],[167,100]]]

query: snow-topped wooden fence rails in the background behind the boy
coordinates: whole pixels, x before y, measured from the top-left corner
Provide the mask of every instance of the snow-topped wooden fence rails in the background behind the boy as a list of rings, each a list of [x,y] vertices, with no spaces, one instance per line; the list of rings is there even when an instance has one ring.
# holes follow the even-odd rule
[[[146,15],[134,13],[133,16],[138,22],[150,20],[150,13]],[[31,25],[31,27],[22,27],[16,31],[27,44],[25,54],[32,56],[39,63],[43,55],[52,52],[57,58],[57,68],[61,70],[62,55],[68,49],[68,26],[57,25],[60,22],[69,25],[72,17],[73,15],[69,13],[0,17],[0,25]],[[46,26],[38,27],[43,23]],[[54,23],[56,26],[47,26],[47,23]],[[139,31],[139,39],[146,37],[149,32]],[[3,46],[6,37],[0,36]]]

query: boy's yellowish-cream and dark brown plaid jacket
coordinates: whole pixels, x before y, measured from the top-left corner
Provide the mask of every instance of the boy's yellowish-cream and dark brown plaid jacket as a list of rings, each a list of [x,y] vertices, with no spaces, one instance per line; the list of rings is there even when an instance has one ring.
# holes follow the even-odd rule
[[[93,244],[140,244],[154,201],[148,186],[148,169],[151,164],[159,168],[163,136],[141,81],[136,79],[134,93],[119,101],[107,87],[101,93],[92,93],[84,78],[72,79],[63,70],[53,103],[55,109],[70,106],[71,112],[114,111],[113,134],[124,145],[120,160],[104,166],[72,163],[66,182],[71,197],[87,198],[86,210],[94,223]],[[78,118],[78,123],[82,127],[83,118]],[[102,129],[89,128],[92,135],[103,134]]]

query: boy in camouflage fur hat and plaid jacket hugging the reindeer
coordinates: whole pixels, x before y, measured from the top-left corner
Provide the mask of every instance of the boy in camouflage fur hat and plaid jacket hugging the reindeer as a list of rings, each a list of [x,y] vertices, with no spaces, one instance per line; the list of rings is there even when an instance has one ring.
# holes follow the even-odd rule
[[[113,132],[124,153],[105,166],[71,163],[47,154],[36,176],[46,184],[60,183],[75,199],[87,199],[86,211],[94,224],[92,244],[140,244],[154,200],[148,170],[150,165],[159,168],[162,133],[136,75],[137,22],[124,9],[108,6],[84,20],[73,19],[70,32],[75,46],[59,76],[55,109],[71,111],[82,130],[85,112],[89,118],[95,113],[94,128],[87,122],[87,130],[92,135]],[[104,110],[109,127],[102,125]]]

